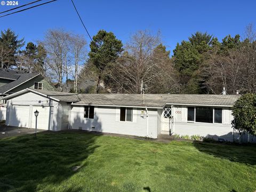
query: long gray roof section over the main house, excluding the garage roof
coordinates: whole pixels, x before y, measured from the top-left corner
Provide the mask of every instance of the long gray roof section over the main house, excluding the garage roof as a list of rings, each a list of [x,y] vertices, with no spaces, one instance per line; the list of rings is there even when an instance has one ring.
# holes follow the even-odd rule
[[[169,104],[232,106],[240,95],[211,95],[211,94],[145,94],[143,104],[142,94],[79,94],[80,101],[75,105],[102,106],[138,106],[164,107]]]

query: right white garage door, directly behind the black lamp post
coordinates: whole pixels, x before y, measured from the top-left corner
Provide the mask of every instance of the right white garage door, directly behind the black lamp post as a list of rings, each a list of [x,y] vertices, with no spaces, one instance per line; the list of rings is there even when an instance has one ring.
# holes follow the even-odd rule
[[[37,129],[50,130],[51,121],[49,121],[52,111],[51,107],[46,106],[33,106],[33,117],[32,117],[32,126],[31,128],[36,127],[36,117],[34,115],[34,111],[38,111],[37,117]]]

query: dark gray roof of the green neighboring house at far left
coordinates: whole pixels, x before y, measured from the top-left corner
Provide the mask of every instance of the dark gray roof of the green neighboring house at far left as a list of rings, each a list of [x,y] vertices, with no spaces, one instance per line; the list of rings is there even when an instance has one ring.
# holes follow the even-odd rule
[[[12,82],[7,83],[0,87],[0,94],[7,93],[10,90],[14,89],[15,87],[19,86],[20,84],[23,84],[29,81],[29,79],[37,77],[38,75],[40,74],[39,73],[22,73],[19,71],[0,69],[0,78],[13,80]]]

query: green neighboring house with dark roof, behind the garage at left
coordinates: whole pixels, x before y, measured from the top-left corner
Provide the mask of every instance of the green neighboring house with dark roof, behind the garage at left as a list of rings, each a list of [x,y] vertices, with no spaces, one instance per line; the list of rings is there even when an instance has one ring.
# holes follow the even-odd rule
[[[2,98],[26,88],[57,91],[39,73],[23,73],[0,68],[0,120],[5,120],[6,113],[6,102]]]

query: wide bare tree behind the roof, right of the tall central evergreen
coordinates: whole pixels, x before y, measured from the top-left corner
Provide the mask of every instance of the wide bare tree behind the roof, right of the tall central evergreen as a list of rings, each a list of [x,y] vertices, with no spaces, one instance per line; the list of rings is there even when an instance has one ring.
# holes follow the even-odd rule
[[[159,44],[160,34],[151,35],[148,30],[140,30],[131,37],[110,74],[122,92],[141,93],[142,81],[150,92],[156,78],[162,75],[162,61],[154,57],[154,50]]]

